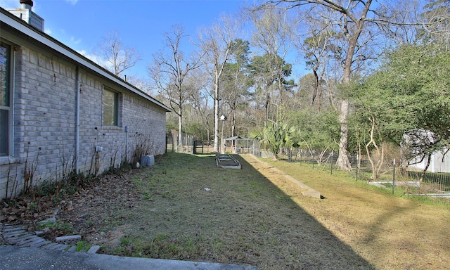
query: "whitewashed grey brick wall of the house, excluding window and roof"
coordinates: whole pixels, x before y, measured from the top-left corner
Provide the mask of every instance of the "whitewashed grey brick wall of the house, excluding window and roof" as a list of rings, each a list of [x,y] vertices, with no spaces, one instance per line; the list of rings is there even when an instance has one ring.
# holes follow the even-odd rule
[[[165,110],[88,70],[80,69],[79,171],[89,172],[96,146],[98,172],[132,158],[136,143],[165,152]],[[103,86],[120,92],[119,127],[103,127]],[[34,182],[56,181],[75,169],[77,69],[48,52],[21,46],[15,59],[13,158],[0,159],[0,199],[23,189],[25,160],[36,167]],[[128,147],[127,133],[129,127]],[[28,158],[27,158],[28,157]],[[114,162],[114,164],[112,164]],[[6,191],[8,184],[8,191]],[[14,186],[14,189],[13,189]]]

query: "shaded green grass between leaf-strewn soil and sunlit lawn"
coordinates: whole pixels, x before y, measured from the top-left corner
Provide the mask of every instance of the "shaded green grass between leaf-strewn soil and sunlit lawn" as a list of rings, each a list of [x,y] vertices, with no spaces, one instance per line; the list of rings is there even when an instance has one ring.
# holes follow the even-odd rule
[[[259,269],[374,269],[240,156],[168,153],[139,177],[122,254]]]

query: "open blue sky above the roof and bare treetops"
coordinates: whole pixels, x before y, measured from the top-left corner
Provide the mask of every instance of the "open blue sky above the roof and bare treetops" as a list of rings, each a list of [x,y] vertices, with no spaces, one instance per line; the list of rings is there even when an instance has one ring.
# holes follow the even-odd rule
[[[164,48],[162,33],[182,25],[195,38],[200,27],[221,13],[238,13],[243,0],[34,0],[32,11],[44,19],[45,32],[86,55],[107,32],[117,31],[124,46],[142,60],[129,76],[145,77],[152,54]],[[2,8],[20,8],[19,0],[0,0]]]

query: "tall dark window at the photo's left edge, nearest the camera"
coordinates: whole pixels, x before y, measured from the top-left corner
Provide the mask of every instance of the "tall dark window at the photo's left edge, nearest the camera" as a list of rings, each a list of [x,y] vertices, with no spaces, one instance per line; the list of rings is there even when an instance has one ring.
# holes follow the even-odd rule
[[[10,154],[11,46],[0,41],[0,156]]]

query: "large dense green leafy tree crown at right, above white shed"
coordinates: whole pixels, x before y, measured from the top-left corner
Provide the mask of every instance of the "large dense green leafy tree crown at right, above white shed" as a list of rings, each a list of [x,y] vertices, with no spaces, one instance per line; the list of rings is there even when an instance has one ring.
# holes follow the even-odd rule
[[[435,44],[405,45],[387,53],[382,67],[353,92],[356,122],[361,131],[372,120],[378,141],[399,144],[405,131],[436,135],[431,148],[450,138],[450,52]]]

